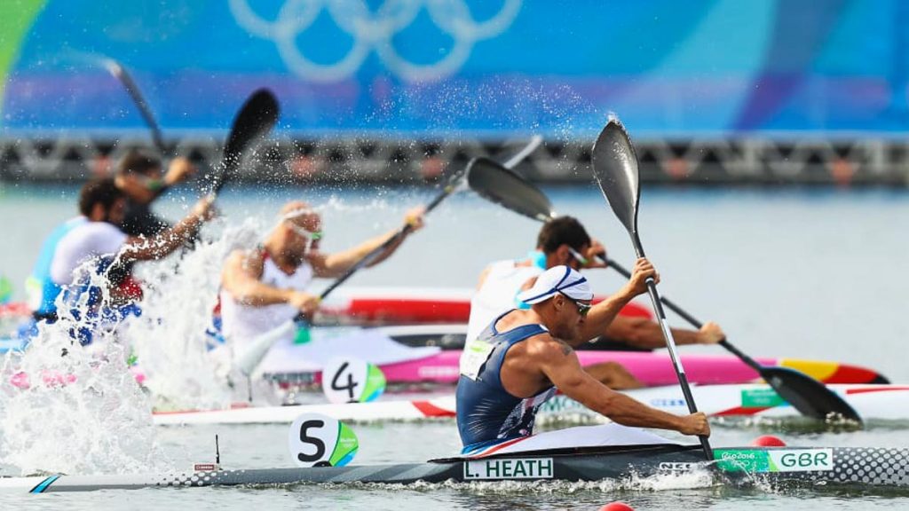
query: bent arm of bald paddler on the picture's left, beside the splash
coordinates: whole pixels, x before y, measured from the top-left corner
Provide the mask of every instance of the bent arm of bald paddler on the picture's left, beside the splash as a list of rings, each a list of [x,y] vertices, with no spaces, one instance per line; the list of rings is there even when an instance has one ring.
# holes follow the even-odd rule
[[[262,282],[265,262],[261,254],[249,254],[235,250],[227,257],[221,272],[221,286],[234,299],[247,306],[271,306],[291,304],[303,312],[311,313],[318,306],[318,297],[295,291],[269,286]]]

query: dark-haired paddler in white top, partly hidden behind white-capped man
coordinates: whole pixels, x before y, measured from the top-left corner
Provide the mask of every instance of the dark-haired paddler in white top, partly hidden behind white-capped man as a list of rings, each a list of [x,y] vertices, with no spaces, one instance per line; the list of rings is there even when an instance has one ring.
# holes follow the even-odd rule
[[[494,317],[512,308],[526,309],[516,296],[533,284],[533,279],[546,269],[565,265],[582,268],[604,268],[597,255],[605,254],[598,241],[591,239],[584,225],[571,216],[560,216],[543,225],[537,236],[536,250],[526,258],[504,260],[486,266],[480,276],[476,293],[470,301],[470,323],[467,342],[478,336]],[[724,339],[720,326],[713,322],[700,330],[673,328],[676,345],[712,345]],[[600,340],[600,336],[609,343]],[[604,329],[585,326],[582,335],[572,341],[573,347],[596,341],[604,349],[647,350],[665,347],[660,325],[644,317],[617,316]],[[615,363],[587,367],[588,372],[605,385],[615,389],[637,388],[641,383],[627,369]]]

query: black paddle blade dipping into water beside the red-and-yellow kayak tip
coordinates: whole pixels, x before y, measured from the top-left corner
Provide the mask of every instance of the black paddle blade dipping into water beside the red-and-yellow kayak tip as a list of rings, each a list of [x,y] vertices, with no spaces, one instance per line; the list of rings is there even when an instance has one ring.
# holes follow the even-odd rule
[[[826,420],[838,415],[862,424],[862,417],[852,406],[811,376],[788,367],[762,367],[759,372],[776,394],[804,416]]]

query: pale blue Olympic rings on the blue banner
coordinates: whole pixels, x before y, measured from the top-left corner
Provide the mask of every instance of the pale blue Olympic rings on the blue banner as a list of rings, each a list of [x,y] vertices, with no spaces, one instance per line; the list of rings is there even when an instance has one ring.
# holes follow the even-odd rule
[[[456,73],[477,41],[501,35],[511,26],[522,1],[504,0],[499,12],[482,22],[474,20],[464,0],[385,0],[375,13],[365,0],[285,0],[273,21],[258,15],[249,0],[230,0],[230,10],[247,32],[274,42],[285,65],[307,80],[335,82],[345,79],[375,51],[395,75],[417,82]],[[454,43],[437,61],[415,64],[397,52],[393,38],[414,23],[423,7],[435,26]],[[353,45],[346,55],[331,64],[319,64],[307,58],[296,42],[323,11],[340,30],[353,38]]]

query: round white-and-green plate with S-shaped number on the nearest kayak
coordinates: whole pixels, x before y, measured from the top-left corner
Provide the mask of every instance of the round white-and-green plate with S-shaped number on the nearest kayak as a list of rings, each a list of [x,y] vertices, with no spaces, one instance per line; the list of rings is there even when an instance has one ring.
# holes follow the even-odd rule
[[[290,426],[287,446],[297,466],[345,466],[354,459],[359,442],[344,423],[307,413]]]

